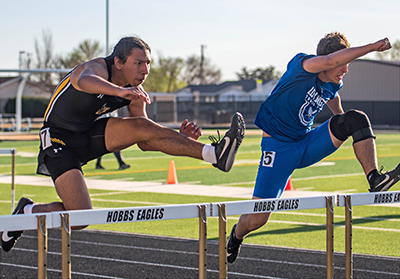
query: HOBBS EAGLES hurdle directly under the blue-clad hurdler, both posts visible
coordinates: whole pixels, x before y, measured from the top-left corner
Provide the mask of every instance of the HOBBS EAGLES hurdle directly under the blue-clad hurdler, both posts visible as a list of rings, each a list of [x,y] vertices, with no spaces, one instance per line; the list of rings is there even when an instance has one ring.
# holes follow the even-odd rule
[[[327,278],[333,278],[333,207],[334,196],[302,198],[256,199],[211,204],[211,212],[219,217],[219,278],[227,278],[226,216],[241,214],[259,214],[288,210],[326,208],[326,272]]]

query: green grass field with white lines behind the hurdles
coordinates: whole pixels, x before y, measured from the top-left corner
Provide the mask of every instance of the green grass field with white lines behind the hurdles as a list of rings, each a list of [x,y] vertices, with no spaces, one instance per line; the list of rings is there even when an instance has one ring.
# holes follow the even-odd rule
[[[160,152],[142,152],[136,147],[123,151],[131,168],[120,171],[112,154],[103,157],[106,170],[96,170],[95,162],[84,166],[85,176],[95,179],[166,182],[168,164],[175,161],[180,183],[201,185],[253,187],[260,159],[258,133],[248,133],[229,173],[216,170],[199,160],[171,157]],[[208,142],[206,136],[201,139]],[[16,174],[34,175],[38,141],[4,141],[0,148],[17,148]],[[400,134],[377,133],[379,166],[394,168],[400,161]],[[10,156],[0,156],[0,174],[10,175]],[[351,141],[322,161],[320,166],[297,170],[292,176],[295,189],[326,192],[367,192],[368,183],[358,164]],[[110,182],[112,183],[112,182]],[[400,186],[393,187],[400,190]],[[132,207],[153,204],[187,204],[231,201],[230,198],[128,193],[122,191],[90,190],[94,208]],[[53,187],[16,186],[16,198],[29,196],[38,203],[58,200]],[[0,184],[0,214],[10,214],[11,189]],[[228,217],[228,230],[239,216]],[[270,222],[246,238],[246,243],[325,250],[325,209],[287,211],[272,214]],[[400,256],[397,239],[400,236],[400,207],[358,206],[353,208],[353,252]],[[135,232],[154,235],[198,238],[198,220],[152,221],[91,226],[91,229]],[[208,219],[208,238],[218,238],[218,220]],[[229,233],[228,232],[228,233]],[[335,208],[335,251],[344,251],[344,209]]]

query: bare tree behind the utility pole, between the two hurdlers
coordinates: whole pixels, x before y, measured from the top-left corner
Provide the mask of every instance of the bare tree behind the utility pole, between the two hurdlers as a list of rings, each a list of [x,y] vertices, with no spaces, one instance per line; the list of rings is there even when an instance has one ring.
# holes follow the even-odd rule
[[[184,81],[190,85],[219,83],[222,75],[221,70],[212,65],[208,58],[204,59],[201,67],[200,60],[201,58],[196,55],[186,59]],[[200,73],[202,73],[201,76]]]

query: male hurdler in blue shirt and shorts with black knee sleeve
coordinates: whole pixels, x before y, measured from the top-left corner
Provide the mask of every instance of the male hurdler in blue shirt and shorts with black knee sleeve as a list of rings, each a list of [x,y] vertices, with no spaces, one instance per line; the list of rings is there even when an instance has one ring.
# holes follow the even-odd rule
[[[344,113],[338,91],[348,63],[373,51],[391,48],[388,39],[352,47],[342,34],[322,38],[317,55],[297,54],[271,95],[261,105],[254,123],[263,131],[262,157],[253,199],[279,198],[295,169],[310,166],[335,152],[349,137],[370,191],[387,191],[398,180],[400,164],[388,173],[377,170],[375,136],[365,113]],[[313,129],[315,115],[327,105],[334,116]],[[263,226],[271,213],[245,214],[228,239],[228,262],[233,263],[243,238]]]

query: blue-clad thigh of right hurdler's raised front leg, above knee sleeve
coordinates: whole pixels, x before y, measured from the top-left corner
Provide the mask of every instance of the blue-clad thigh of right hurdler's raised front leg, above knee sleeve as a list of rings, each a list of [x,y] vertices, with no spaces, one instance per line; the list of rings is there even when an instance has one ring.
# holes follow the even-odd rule
[[[299,168],[311,166],[337,150],[329,133],[329,120],[313,129],[303,140],[304,155]]]

